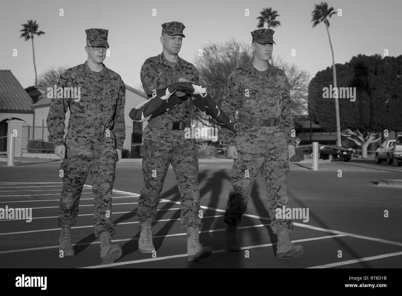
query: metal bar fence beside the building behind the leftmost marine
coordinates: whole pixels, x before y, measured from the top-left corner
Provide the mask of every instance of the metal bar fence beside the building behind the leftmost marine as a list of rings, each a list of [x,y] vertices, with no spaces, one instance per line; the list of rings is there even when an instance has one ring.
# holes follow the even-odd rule
[[[64,128],[64,135],[68,128]],[[23,126],[23,152],[46,153],[54,150],[53,137],[49,135],[47,126]]]

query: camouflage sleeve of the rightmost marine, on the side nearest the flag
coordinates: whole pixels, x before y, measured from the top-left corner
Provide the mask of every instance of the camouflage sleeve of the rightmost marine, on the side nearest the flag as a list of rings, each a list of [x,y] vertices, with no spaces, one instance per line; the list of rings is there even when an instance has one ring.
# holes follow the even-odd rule
[[[228,82],[226,83],[221,106],[222,110],[225,112],[226,115],[228,115],[229,119],[232,120],[232,122],[235,122],[236,110],[238,110],[239,107],[241,94],[242,90],[240,89],[240,83],[238,82],[236,75],[232,73],[228,78]],[[236,146],[236,132],[232,132],[227,128],[223,128],[222,135],[226,143],[226,148]]]

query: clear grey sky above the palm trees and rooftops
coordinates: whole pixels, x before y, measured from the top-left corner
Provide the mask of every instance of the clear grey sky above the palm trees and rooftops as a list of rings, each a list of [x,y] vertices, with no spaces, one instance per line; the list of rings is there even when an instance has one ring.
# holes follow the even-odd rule
[[[281,26],[274,29],[273,55],[310,72],[311,78],[332,65],[324,24],[312,28],[311,13],[318,0],[1,0],[0,69],[9,69],[23,87],[35,84],[31,40],[20,38],[22,24],[36,20],[45,35],[35,36],[38,76],[52,66],[76,66],[87,59],[85,29],[109,30],[110,56],[104,64],[131,87],[141,85],[144,61],[162,52],[161,25],[184,23],[179,56],[194,62],[208,43],[232,38],[251,43],[263,8],[277,10]],[[330,18],[330,37],[336,63],[357,54],[402,54],[402,1],[329,1],[342,16]],[[59,10],[64,10],[64,16]],[[154,10],[155,9],[155,10]],[[154,12],[156,16],[153,16]],[[246,15],[248,11],[248,16]],[[13,50],[17,56],[13,56]],[[292,56],[295,50],[295,56]]]

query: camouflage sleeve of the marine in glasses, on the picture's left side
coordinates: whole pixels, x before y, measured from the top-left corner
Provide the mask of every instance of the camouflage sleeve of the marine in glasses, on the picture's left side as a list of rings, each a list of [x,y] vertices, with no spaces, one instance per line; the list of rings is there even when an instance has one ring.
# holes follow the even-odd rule
[[[72,87],[70,75],[64,72],[60,75],[57,87]],[[58,98],[57,93],[53,94],[51,99],[49,114],[47,115],[46,124],[49,134],[53,137],[55,147],[64,145],[64,121],[66,120],[66,112],[70,106],[69,98]]]

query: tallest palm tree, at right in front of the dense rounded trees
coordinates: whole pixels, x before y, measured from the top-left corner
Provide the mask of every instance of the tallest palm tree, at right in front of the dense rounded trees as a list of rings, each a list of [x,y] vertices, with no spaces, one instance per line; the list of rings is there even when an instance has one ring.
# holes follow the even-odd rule
[[[329,35],[329,21],[328,19],[332,16],[332,14],[336,13],[334,12],[334,8],[328,8],[328,3],[327,2],[321,2],[320,5],[315,4],[314,5],[314,11],[312,12],[313,19],[311,20],[313,22],[313,28],[316,27],[319,23],[324,23],[325,27],[327,29],[328,33],[328,39],[329,39],[329,45],[331,47],[331,52],[332,52],[332,73],[334,76],[334,88],[336,88],[336,68],[335,68],[335,59],[334,59],[334,50],[332,48],[332,43],[331,43],[331,37]],[[339,100],[338,100],[338,95],[335,97],[335,111],[336,111],[336,136],[338,139],[338,146],[340,147],[342,145],[341,139],[340,139],[340,120],[339,120]]]

